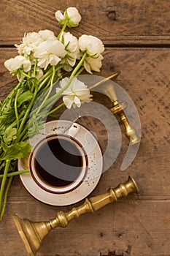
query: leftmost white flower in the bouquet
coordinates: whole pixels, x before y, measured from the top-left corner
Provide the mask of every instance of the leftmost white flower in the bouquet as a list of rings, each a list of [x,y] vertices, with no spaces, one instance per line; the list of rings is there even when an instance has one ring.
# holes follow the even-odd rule
[[[16,56],[15,58],[8,59],[4,62],[4,66],[11,72],[14,73],[17,69],[23,68],[24,72],[31,70],[31,61],[26,59],[25,56]]]

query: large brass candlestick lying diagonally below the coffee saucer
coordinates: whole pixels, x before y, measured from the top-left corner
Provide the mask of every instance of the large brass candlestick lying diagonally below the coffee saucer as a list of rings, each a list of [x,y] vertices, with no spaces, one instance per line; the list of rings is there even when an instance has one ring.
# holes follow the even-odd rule
[[[81,206],[72,208],[71,211],[64,213],[59,211],[54,219],[47,222],[31,222],[28,219],[20,219],[18,215],[14,215],[15,224],[26,245],[29,256],[36,255],[42,244],[42,239],[55,227],[66,227],[72,219],[80,217],[85,213],[93,213],[99,208],[106,206],[108,203],[116,201],[120,197],[126,197],[130,193],[138,193],[136,182],[131,176],[123,184],[119,184],[115,189],[108,189],[104,194],[96,197],[86,198],[85,203]]]

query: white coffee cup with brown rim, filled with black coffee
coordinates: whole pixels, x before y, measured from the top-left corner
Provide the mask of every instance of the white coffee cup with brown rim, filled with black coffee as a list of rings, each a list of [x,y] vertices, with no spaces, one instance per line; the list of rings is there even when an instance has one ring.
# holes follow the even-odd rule
[[[31,176],[47,192],[66,193],[74,190],[88,172],[88,157],[77,140],[79,124],[67,133],[47,135],[40,139],[28,159]]]

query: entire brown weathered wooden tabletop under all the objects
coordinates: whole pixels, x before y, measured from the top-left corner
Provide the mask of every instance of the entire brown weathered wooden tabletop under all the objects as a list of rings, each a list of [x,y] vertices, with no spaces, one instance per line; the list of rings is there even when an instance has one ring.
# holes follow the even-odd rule
[[[12,89],[14,78],[4,61],[17,55],[14,44],[24,32],[50,29],[58,34],[54,13],[74,6],[82,15],[72,30],[93,34],[105,44],[101,72],[107,77],[121,70],[117,83],[133,99],[142,123],[142,141],[134,162],[120,170],[128,140],[123,135],[120,154],[101,177],[92,195],[105,192],[131,174],[139,195],[110,204],[95,214],[73,220],[66,229],[53,230],[37,255],[43,256],[168,256],[170,255],[169,171],[169,0],[38,1],[1,0],[0,99]],[[104,99],[104,104],[107,99]],[[95,125],[95,124],[90,124]],[[123,132],[123,126],[121,126]],[[104,143],[104,136],[98,132]],[[123,134],[123,133],[122,133]],[[104,144],[103,144],[104,145]],[[77,203],[76,205],[79,205]],[[7,211],[0,223],[0,255],[27,255],[12,214],[46,220],[72,206],[47,206],[31,197],[16,177],[9,192]]]

